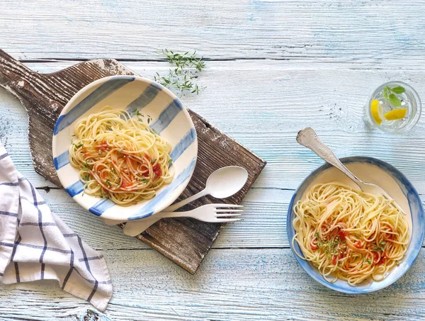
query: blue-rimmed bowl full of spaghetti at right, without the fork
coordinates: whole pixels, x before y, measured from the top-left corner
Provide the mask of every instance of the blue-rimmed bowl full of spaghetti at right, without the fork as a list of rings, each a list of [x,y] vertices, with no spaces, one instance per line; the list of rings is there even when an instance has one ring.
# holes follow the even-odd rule
[[[412,266],[424,237],[421,200],[406,177],[370,157],[342,162],[360,179],[385,188],[391,201],[358,191],[338,169],[325,164],[295,192],[288,209],[288,239],[307,274],[344,293],[377,291]]]

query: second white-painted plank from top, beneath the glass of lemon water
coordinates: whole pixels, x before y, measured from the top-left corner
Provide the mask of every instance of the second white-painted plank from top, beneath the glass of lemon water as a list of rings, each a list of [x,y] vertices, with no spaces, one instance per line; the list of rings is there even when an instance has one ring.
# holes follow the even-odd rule
[[[30,64],[52,72],[73,62]],[[166,72],[162,62],[128,62],[146,77]],[[363,123],[363,106],[376,86],[389,79],[408,81],[425,96],[421,69],[399,69],[394,62],[382,69],[357,69],[356,64],[294,64],[285,61],[208,62],[199,77],[207,88],[181,100],[242,145],[266,159],[268,165],[256,187],[291,188],[322,161],[295,142],[297,131],[312,126],[339,157],[377,157],[400,169],[419,193],[425,193],[425,118],[407,135],[371,131]],[[308,79],[306,81],[306,79]],[[16,167],[36,186],[45,179],[30,166],[23,108],[0,90],[0,137]],[[50,184],[51,185],[51,184]]]

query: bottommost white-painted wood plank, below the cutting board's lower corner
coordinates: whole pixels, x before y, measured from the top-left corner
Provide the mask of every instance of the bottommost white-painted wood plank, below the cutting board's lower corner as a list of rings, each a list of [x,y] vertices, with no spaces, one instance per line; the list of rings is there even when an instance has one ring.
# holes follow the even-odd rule
[[[111,320],[424,320],[425,255],[390,288],[345,295],[314,282],[290,249],[213,249],[194,276],[153,250],[104,251]],[[0,286],[0,319],[71,320],[91,308],[54,282]],[[75,320],[75,319],[72,319]]]

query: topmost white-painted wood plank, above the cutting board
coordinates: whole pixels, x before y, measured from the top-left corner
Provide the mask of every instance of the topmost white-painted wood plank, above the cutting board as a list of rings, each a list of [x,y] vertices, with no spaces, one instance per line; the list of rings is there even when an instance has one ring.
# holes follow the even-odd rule
[[[2,0],[0,43],[20,59],[424,61],[424,15],[421,0]]]

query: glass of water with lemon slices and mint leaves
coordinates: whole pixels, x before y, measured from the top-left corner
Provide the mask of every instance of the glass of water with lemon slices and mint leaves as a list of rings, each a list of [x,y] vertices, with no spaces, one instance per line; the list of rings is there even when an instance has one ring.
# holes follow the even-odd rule
[[[390,81],[373,92],[365,106],[365,120],[384,132],[404,133],[416,125],[421,108],[421,99],[412,86]]]

